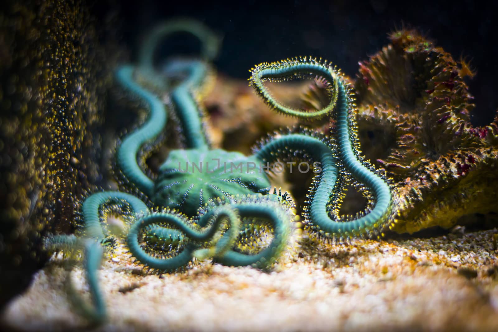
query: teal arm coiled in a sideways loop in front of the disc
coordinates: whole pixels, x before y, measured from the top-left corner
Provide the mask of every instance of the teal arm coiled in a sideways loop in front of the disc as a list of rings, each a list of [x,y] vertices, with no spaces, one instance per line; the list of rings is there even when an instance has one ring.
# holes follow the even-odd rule
[[[202,242],[210,241],[216,237],[215,235],[219,231],[220,224],[223,221],[228,221],[230,228],[216,241],[214,248],[201,249],[200,245]],[[188,239],[188,241],[181,252],[168,258],[157,258],[145,252],[139,244],[138,233],[141,229],[146,229],[147,226],[152,224],[156,224],[153,228],[155,231],[159,230],[157,227],[160,225],[160,227],[173,227],[182,232],[184,238]],[[227,205],[208,211],[201,217],[199,224],[206,225],[206,227],[197,229],[198,227],[190,225],[184,217],[173,213],[156,213],[143,217],[136,221],[129,229],[129,250],[137,260],[150,268],[161,271],[173,271],[188,264],[194,256],[206,258],[210,255],[217,257],[218,255],[225,254],[232,247],[239,233],[240,219],[236,211]]]

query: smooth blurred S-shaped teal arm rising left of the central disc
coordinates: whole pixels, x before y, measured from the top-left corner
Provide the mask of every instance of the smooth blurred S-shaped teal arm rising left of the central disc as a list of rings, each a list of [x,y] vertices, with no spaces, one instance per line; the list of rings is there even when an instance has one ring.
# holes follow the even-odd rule
[[[166,126],[167,113],[164,104],[154,94],[140,87],[133,80],[133,67],[122,66],[116,77],[118,82],[128,91],[143,100],[149,110],[147,121],[131,134],[127,135],[118,149],[118,166],[128,181],[133,183],[144,194],[153,194],[154,183],[143,173],[137,162],[140,147],[147,141],[156,138]]]

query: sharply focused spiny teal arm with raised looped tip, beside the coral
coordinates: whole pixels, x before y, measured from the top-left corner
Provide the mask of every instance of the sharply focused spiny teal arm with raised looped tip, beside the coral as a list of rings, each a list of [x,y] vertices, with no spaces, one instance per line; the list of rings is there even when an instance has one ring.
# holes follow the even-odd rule
[[[318,111],[295,110],[275,101],[264,87],[264,80],[281,81],[289,77],[319,76],[330,83],[331,101],[328,106]],[[322,163],[322,174],[309,206],[309,220],[321,234],[333,237],[351,237],[381,230],[391,206],[391,193],[386,181],[375,174],[359,160],[354,105],[349,90],[340,73],[326,62],[316,59],[290,59],[281,62],[263,63],[252,69],[250,84],[265,102],[276,111],[297,117],[318,118],[324,115],[336,119],[335,139],[339,148],[337,165],[344,165],[346,170],[358,181],[373,190],[375,206],[372,211],[356,220],[338,222],[328,216],[327,205],[333,194],[338,171],[333,161],[330,148],[323,142],[306,135],[282,136],[263,145],[257,156],[266,161],[275,160],[282,151],[297,149],[311,155]],[[326,147],[326,148],[325,148]],[[328,151],[327,151],[328,149]],[[323,159],[325,158],[325,159]]]

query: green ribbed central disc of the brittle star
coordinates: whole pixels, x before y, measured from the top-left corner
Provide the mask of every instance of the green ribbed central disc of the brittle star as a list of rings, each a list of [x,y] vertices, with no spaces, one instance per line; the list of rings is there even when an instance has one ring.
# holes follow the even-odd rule
[[[173,150],[160,167],[154,203],[195,216],[218,197],[267,193],[270,183],[260,161],[221,149]]]

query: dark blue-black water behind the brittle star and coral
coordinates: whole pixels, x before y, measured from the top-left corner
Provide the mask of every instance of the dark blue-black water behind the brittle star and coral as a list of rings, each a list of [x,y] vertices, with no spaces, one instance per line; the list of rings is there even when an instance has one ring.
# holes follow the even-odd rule
[[[498,109],[496,4],[470,0],[228,3],[115,0],[96,1],[94,10],[97,15],[110,9],[117,12],[119,34],[132,61],[133,50],[155,23],[177,16],[197,18],[224,35],[216,68],[241,79],[249,77],[254,64],[298,55],[321,56],[354,76],[358,61],[386,45],[387,34],[404,24],[418,28],[456,60],[461,55],[472,60],[478,72],[468,82],[477,105],[474,124],[489,123]],[[176,50],[182,47],[179,43],[168,41],[166,46]]]

